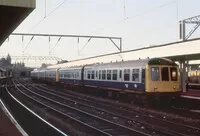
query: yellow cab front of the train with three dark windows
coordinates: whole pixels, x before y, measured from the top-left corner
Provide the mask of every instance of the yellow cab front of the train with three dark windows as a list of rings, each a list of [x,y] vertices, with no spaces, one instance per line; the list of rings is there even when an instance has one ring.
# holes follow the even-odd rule
[[[151,59],[146,65],[146,93],[156,96],[179,96],[178,65],[165,58]]]

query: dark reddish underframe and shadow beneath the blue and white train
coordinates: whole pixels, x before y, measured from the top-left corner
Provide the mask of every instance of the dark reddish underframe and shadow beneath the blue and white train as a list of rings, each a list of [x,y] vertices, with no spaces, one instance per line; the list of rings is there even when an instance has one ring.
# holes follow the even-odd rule
[[[36,81],[36,80],[34,80]],[[66,84],[64,82],[55,82],[55,80],[37,80],[42,83],[55,85],[61,88],[66,88],[79,93],[90,94],[102,98],[113,99],[136,104],[153,104],[153,105],[169,105],[174,103],[180,97],[181,92],[156,92],[144,93],[132,90],[120,90],[113,88],[103,88],[96,86],[83,86],[80,84]]]

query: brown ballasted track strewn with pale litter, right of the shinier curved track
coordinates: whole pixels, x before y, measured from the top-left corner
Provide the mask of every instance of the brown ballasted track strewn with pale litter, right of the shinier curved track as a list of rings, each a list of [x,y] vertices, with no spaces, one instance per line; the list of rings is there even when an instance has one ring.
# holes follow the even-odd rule
[[[48,89],[43,86],[29,86],[31,90],[37,90],[43,96],[51,97],[55,101],[66,103],[70,106],[82,109],[96,116],[104,117],[115,123],[120,123],[126,127],[134,129],[145,129],[153,135],[199,135],[200,129],[194,126],[188,126],[165,119],[159,119],[154,116],[144,115],[144,113],[135,113],[125,109],[113,107],[113,105],[102,104],[98,101],[90,101],[85,98],[76,97],[66,93],[61,93]],[[98,107],[98,108],[97,108]],[[112,112],[111,112],[112,111]]]

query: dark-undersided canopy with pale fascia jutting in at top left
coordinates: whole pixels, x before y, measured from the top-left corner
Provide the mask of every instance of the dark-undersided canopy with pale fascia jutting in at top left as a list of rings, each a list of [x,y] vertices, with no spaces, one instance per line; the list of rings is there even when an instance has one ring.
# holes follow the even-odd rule
[[[0,0],[0,45],[33,11],[36,0]]]

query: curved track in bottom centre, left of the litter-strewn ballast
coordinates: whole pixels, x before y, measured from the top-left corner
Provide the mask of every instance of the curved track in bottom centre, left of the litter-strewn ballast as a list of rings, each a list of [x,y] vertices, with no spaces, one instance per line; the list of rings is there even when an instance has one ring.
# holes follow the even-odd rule
[[[46,109],[50,110],[51,112],[56,112],[66,118],[73,119],[76,122],[79,122],[82,125],[87,126],[92,131],[96,131],[97,134],[95,135],[115,135],[115,136],[128,136],[128,135],[138,135],[138,136],[150,136],[150,134],[145,133],[144,131],[131,129],[129,127],[111,122],[107,119],[95,116],[83,110],[74,108],[58,100],[53,100],[49,96],[44,96],[38,94],[24,85],[20,84],[19,82],[16,84],[14,83],[16,88],[19,92],[21,92],[26,97],[30,98],[31,100],[37,102],[38,104],[42,105]]]

